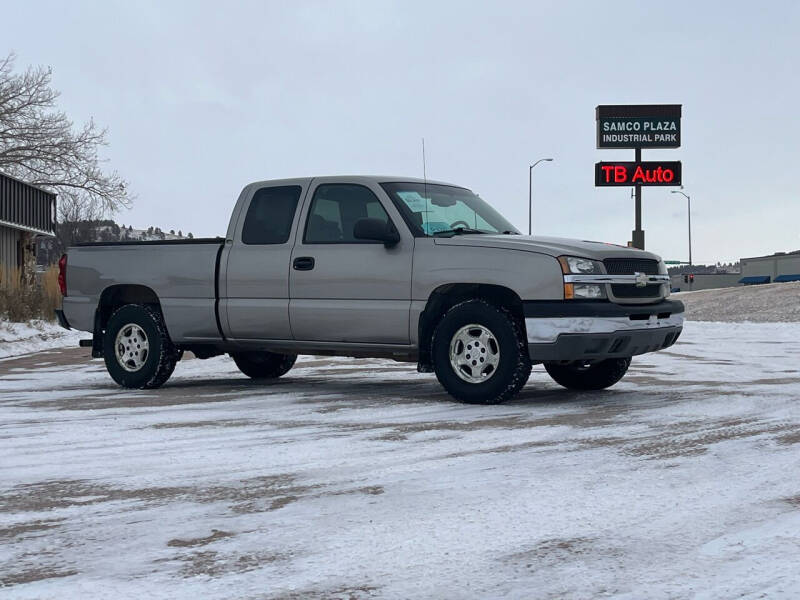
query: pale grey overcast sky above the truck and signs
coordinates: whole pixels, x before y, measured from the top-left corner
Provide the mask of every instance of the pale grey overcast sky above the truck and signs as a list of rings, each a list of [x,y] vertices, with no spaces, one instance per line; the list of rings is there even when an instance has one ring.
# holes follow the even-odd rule
[[[702,6],[700,6],[702,4]],[[2,1],[2,53],[49,65],[109,128],[138,196],[117,221],[224,234],[249,181],[422,175],[534,233],[625,244],[629,188],[595,188],[598,104],[683,105],[695,262],[800,248],[798,2]],[[647,248],[687,257],[686,201],[645,188]]]

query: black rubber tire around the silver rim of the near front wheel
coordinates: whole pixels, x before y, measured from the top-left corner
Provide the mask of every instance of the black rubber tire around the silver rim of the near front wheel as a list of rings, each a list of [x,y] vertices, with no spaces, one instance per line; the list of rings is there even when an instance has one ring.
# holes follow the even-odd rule
[[[488,329],[499,350],[496,368],[485,381],[476,383],[462,379],[450,360],[454,336],[472,324]],[[505,402],[522,389],[531,374],[528,345],[520,319],[506,308],[485,300],[467,300],[445,313],[433,332],[431,358],[439,383],[456,400],[469,404]]]

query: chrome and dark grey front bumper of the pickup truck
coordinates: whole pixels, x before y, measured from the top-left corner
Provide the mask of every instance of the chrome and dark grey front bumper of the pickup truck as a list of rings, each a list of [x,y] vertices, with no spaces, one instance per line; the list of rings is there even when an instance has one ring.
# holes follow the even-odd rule
[[[528,353],[535,362],[598,360],[655,352],[683,330],[683,303],[525,302]]]

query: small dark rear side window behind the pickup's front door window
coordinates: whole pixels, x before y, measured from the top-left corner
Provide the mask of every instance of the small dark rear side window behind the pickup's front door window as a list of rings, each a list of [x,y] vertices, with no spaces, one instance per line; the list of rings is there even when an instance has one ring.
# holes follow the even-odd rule
[[[242,227],[245,244],[285,244],[302,189],[299,185],[261,188],[250,201]]]

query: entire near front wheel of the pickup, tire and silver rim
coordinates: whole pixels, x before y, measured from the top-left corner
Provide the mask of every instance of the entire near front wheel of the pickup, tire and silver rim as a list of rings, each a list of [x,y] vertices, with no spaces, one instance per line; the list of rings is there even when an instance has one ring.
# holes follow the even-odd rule
[[[518,319],[484,300],[447,311],[433,332],[433,369],[451,396],[470,404],[498,404],[514,396],[531,372]]]

